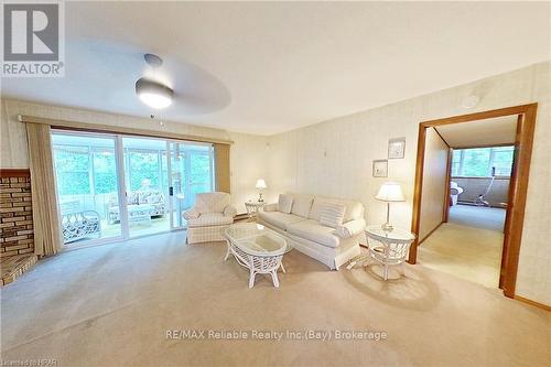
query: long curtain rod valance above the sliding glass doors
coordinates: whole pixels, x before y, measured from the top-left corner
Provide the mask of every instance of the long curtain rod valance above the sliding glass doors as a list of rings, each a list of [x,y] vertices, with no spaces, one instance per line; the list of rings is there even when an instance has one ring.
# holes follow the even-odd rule
[[[198,136],[183,134],[177,132],[134,129],[134,128],[115,127],[110,125],[99,125],[99,123],[88,123],[88,122],[76,122],[76,121],[48,119],[48,118],[26,116],[26,115],[18,115],[18,119],[20,122],[23,123],[50,125],[52,128],[60,130],[123,133],[137,137],[166,138],[166,139],[188,140],[188,141],[228,144],[228,145],[231,145],[234,143],[231,140],[213,139]]]

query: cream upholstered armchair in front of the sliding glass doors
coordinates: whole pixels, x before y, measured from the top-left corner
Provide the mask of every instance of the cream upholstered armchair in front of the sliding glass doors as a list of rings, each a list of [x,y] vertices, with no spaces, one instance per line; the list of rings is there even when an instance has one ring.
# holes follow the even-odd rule
[[[195,196],[195,206],[183,214],[187,220],[187,244],[222,241],[224,230],[234,223],[237,211],[226,193],[203,193]]]

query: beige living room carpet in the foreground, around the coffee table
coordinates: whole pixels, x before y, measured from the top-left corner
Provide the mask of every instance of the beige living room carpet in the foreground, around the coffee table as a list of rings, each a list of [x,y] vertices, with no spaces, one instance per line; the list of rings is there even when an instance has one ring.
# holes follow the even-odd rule
[[[543,366],[550,313],[498,291],[406,266],[382,282],[291,251],[274,289],[225,245],[183,234],[40,261],[2,290],[2,359],[57,366]],[[385,331],[374,341],[166,339],[168,330]]]

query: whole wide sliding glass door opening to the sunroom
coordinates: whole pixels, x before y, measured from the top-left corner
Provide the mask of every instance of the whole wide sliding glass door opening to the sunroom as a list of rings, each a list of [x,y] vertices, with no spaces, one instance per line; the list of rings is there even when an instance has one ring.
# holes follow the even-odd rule
[[[197,193],[214,191],[212,144],[54,131],[65,244],[183,229]]]

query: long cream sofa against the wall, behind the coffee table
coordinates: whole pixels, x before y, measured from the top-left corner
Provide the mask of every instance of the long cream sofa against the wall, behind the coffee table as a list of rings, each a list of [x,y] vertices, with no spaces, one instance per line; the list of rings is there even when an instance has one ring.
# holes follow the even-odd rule
[[[307,194],[285,194],[292,197],[290,213],[280,204],[264,205],[257,222],[283,235],[299,251],[337,269],[360,253],[359,238],[366,227],[360,202]],[[281,196],[280,196],[281,197]],[[280,199],[281,203],[281,199]],[[326,203],[345,207],[343,224],[322,225],[320,218]]]

